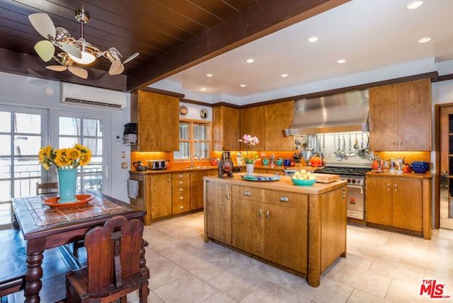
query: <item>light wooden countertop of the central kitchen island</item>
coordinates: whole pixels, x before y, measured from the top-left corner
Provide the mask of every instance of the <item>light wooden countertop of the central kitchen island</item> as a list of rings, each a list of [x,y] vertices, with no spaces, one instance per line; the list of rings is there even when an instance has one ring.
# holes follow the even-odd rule
[[[333,181],[331,183],[316,182],[314,183],[314,185],[311,186],[298,186],[292,183],[290,176],[280,176],[280,179],[275,181],[247,181],[241,178],[241,176],[244,175],[246,175],[246,173],[235,173],[234,178],[229,178],[228,176],[225,176],[224,178],[219,178],[218,176],[206,176],[203,177],[203,180],[217,183],[227,183],[231,185],[242,185],[264,189],[283,190],[292,193],[305,193],[309,195],[321,195],[323,193],[328,193],[331,190],[341,188],[348,184],[347,181],[338,180]],[[258,175],[263,175],[263,173],[258,173]],[[270,174],[270,176],[275,175]]]

